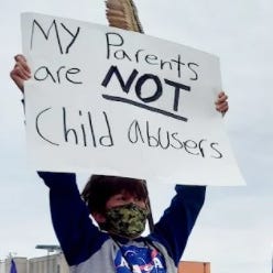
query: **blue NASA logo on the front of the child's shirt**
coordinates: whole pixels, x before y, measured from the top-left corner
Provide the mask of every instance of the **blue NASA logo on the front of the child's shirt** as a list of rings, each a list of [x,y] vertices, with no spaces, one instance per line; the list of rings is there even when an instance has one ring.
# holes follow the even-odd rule
[[[163,256],[156,249],[123,245],[114,259],[117,273],[166,273]]]

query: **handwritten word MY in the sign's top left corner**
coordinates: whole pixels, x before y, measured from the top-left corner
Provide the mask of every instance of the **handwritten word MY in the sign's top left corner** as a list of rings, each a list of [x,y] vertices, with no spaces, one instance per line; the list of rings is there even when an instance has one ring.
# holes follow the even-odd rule
[[[76,39],[79,34],[79,30],[80,28],[77,26],[76,31],[70,31],[64,23],[56,23],[56,20],[54,19],[52,21],[51,26],[45,31],[43,29],[43,26],[34,19],[32,22],[32,31],[31,31],[31,45],[30,48],[32,50],[34,46],[34,37],[36,35],[35,30],[40,30],[40,33],[43,34],[43,36],[45,37],[45,40],[50,40],[50,34],[52,33],[52,30],[54,31],[54,39],[57,42],[57,46],[61,54],[68,54],[70,47],[73,46],[73,44],[76,42]],[[67,41],[67,39],[63,39],[62,36],[68,34],[70,36],[70,41],[68,41],[68,43],[64,44],[64,41]]]

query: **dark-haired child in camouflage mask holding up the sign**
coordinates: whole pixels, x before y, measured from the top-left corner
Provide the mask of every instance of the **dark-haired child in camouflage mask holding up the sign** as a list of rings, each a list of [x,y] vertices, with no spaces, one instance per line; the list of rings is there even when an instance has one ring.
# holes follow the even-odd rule
[[[11,78],[23,91],[30,77],[26,59],[17,55]],[[218,111],[226,113],[227,99],[219,94]],[[176,185],[170,207],[151,233],[141,237],[151,214],[143,181],[92,175],[80,195],[74,173],[39,175],[50,187],[53,226],[72,272],[177,272],[205,201],[205,186]]]

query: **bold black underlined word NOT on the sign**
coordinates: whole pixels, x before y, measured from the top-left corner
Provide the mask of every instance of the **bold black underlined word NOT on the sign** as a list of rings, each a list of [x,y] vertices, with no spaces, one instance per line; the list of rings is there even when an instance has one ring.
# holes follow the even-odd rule
[[[119,68],[117,66],[112,65],[109,68],[105,79],[102,80],[101,86],[107,87],[113,75],[116,75],[122,91],[124,94],[129,94],[133,81],[135,80],[136,76],[139,75],[139,72],[136,69],[133,69],[131,75],[127,79],[127,81],[124,81],[122,75],[120,74]],[[154,91],[153,90],[151,91],[150,89],[148,90],[146,88],[143,88],[143,86],[146,84],[148,80],[152,81],[155,85],[155,90]],[[174,111],[178,111],[181,90],[190,91],[190,87],[186,86],[186,85],[183,85],[183,84],[179,84],[179,83],[172,81],[172,80],[166,79],[166,78],[164,78],[164,84],[174,88],[174,99],[173,99],[173,103],[172,103],[173,105],[172,109]],[[143,103],[138,103],[135,101],[124,99],[122,97],[113,97],[113,96],[109,96],[109,95],[102,95],[102,97],[105,99],[131,103],[131,105],[134,105],[134,106],[138,106],[138,107],[141,107],[141,108],[145,108],[145,109],[148,109],[150,111],[160,112],[160,113],[163,113],[165,116],[176,118],[178,120],[187,121],[187,118],[185,118],[185,117],[173,114],[172,112],[164,111],[162,109],[153,108],[153,107],[150,107],[150,106],[145,105],[145,103],[149,103],[149,102],[157,101],[162,97],[163,90],[164,89],[163,89],[162,80],[160,79],[159,76],[156,76],[154,74],[143,74],[142,76],[140,76],[136,79],[135,88],[134,88],[136,97]],[[146,94],[152,94],[152,95],[146,96]]]

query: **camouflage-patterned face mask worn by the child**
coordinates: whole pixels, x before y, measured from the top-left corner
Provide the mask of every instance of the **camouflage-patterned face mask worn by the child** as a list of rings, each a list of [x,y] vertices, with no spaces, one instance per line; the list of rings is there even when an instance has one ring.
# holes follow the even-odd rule
[[[144,231],[148,215],[146,208],[130,203],[108,209],[103,226],[110,233],[133,239]]]

